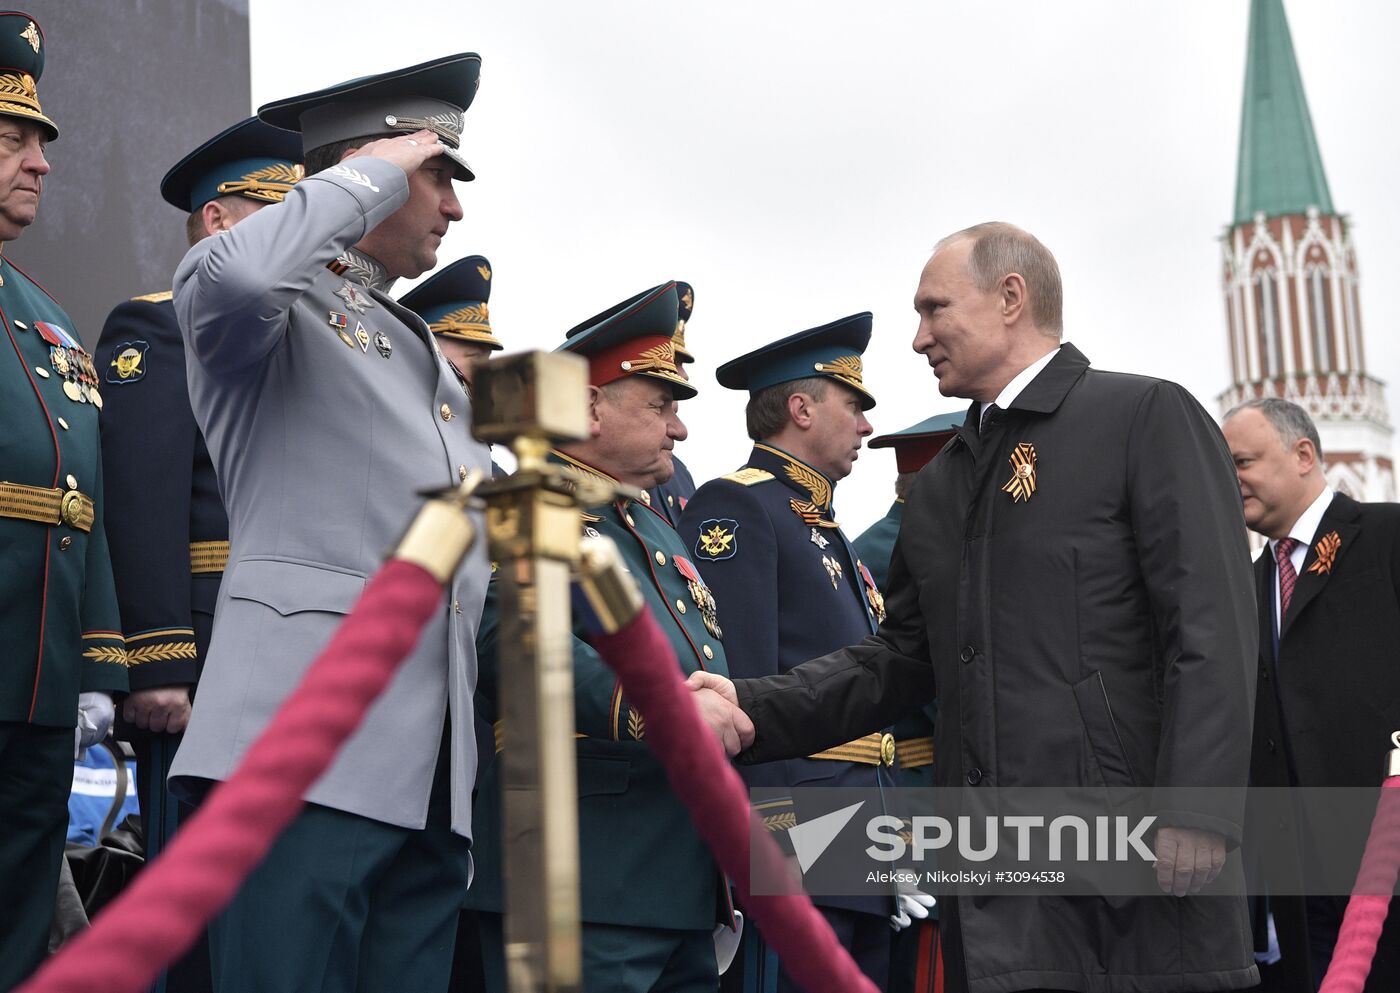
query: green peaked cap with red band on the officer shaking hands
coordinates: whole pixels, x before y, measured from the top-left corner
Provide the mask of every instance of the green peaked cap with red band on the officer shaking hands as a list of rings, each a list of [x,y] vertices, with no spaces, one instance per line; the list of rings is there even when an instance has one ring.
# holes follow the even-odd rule
[[[556,352],[574,352],[588,360],[588,382],[605,387],[629,375],[669,382],[678,401],[696,388],[676,371],[672,339],[679,314],[675,282],[654,286],[568,329]]]

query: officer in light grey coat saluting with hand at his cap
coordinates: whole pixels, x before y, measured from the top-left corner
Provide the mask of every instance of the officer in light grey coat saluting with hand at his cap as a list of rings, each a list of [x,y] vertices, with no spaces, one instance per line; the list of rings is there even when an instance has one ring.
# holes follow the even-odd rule
[[[269,104],[308,175],[175,273],[190,405],[230,524],[209,658],[171,769],[221,780],[402,534],[424,486],[486,472],[470,399],[388,289],[437,262],[480,57]],[[477,527],[483,522],[477,520]],[[220,990],[444,989],[470,874],[482,545],[304,811],[210,927]],[[288,927],[287,922],[295,922]]]

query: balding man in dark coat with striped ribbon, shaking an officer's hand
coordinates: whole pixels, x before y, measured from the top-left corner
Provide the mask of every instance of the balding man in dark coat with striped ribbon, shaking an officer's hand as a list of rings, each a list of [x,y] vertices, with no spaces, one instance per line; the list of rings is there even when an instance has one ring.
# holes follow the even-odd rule
[[[879,632],[734,683],[757,728],[741,761],[829,748],[937,686],[941,787],[1242,787],[1257,625],[1215,423],[1180,387],[1061,345],[1054,258],[1009,224],[939,242],[914,307],[939,391],[976,403],[914,482]],[[1239,840],[1239,793],[1159,811],[1172,895],[942,901],[948,987],[1256,983],[1243,898],[1197,895]]]

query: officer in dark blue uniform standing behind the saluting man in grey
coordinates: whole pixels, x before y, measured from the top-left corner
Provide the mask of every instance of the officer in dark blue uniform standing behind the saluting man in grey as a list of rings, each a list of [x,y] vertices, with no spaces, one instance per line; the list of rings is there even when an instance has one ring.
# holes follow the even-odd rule
[[[301,178],[301,140],[248,118],[181,158],[161,196],[185,211],[190,245],[227,231]],[[132,692],[118,732],[136,751],[146,857],[182,815],[165,776],[189,721],[228,560],[228,515],[195,423],[185,343],[171,291],[119,304],[106,318],[97,367],[106,387],[102,472],[112,573],[122,608]],[[168,993],[209,989],[203,940],[171,966]]]

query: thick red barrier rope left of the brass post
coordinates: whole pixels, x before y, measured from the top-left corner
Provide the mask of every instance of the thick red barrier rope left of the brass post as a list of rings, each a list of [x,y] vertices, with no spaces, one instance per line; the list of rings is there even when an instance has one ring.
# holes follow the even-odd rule
[[[301,796],[441,609],[421,567],[386,563],[242,763],[92,927],[17,993],[140,993],[195,941],[301,811]]]

